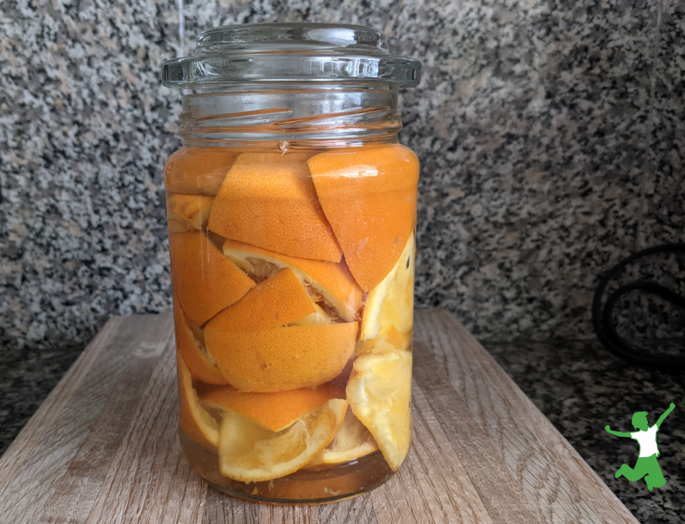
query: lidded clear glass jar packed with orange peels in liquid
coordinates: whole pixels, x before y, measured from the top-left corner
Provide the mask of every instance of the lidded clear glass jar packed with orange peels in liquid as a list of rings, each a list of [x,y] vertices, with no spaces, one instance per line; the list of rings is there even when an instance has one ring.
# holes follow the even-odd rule
[[[164,64],[182,448],[231,495],[344,499],[411,434],[419,162],[397,142],[416,60],[369,27],[256,24]]]

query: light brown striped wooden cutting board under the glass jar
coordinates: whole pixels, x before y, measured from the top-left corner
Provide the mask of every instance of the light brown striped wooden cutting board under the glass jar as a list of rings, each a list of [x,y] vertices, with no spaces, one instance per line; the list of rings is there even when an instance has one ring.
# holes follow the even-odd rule
[[[0,458],[3,523],[636,523],[445,311],[416,311],[414,436],[384,486],[319,506],[208,488],[176,435],[171,314],[112,318]]]

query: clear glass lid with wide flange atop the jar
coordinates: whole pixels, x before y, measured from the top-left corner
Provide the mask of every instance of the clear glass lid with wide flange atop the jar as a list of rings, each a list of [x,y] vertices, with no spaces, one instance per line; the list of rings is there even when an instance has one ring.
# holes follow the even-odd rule
[[[164,62],[167,87],[243,82],[416,86],[421,63],[393,56],[385,34],[363,25],[226,25],[197,37],[190,56]]]

